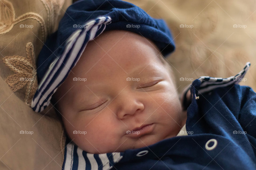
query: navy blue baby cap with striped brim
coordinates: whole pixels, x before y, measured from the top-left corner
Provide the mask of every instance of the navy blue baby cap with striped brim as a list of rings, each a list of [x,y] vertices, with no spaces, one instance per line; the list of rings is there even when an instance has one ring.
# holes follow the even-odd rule
[[[39,87],[31,107],[43,111],[83,53],[86,44],[103,31],[126,30],[150,40],[166,57],[175,46],[162,19],[154,19],[141,8],[119,0],[81,0],[73,3],[43,46],[37,59]]]

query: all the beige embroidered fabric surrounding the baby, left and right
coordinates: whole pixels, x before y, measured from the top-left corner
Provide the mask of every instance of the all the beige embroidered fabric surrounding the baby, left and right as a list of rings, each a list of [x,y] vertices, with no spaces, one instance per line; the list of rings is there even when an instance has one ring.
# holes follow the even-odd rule
[[[233,76],[247,61],[251,67],[240,84],[256,89],[254,1],[127,1],[165,19],[172,30],[176,50],[168,60],[179,92],[203,75]],[[38,114],[30,102],[38,86],[37,56],[69,5],[71,0],[0,0],[0,169],[61,169],[61,121],[51,105]]]

